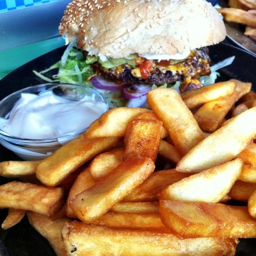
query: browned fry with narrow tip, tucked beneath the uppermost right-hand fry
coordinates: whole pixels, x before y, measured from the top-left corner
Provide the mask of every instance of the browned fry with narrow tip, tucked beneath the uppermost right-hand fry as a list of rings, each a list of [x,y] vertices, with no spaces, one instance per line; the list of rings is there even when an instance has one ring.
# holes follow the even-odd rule
[[[252,86],[250,83],[242,83],[237,80],[230,81],[237,84],[231,96],[208,102],[194,114],[194,118],[196,118],[204,132],[215,132],[221,126],[226,114],[228,114],[234,103],[244,94],[248,93]]]

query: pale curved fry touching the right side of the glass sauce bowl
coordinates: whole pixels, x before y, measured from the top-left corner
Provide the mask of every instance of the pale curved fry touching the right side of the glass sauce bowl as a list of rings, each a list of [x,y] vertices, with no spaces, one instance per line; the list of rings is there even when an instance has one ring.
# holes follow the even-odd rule
[[[150,112],[146,108],[113,108],[94,121],[84,132],[85,139],[100,137],[122,137],[125,128],[136,115]]]

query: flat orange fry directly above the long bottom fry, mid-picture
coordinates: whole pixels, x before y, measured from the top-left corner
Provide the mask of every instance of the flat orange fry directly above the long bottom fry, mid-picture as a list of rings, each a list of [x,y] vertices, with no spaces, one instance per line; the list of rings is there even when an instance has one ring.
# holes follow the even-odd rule
[[[173,234],[173,231],[170,228],[164,226],[159,213],[140,214],[107,212],[97,220],[94,220],[92,224],[105,226],[107,228],[127,228]]]

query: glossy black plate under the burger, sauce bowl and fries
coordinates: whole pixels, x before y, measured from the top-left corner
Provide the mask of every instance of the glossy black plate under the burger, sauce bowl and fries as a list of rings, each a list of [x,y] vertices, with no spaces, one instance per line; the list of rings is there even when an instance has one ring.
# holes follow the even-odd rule
[[[43,84],[44,81],[36,77],[34,73],[32,73],[32,70],[39,72],[48,68],[60,60],[64,50],[65,46],[44,54],[14,70],[0,80],[0,100],[22,88]],[[254,56],[226,43],[210,46],[209,50],[212,64],[216,64],[228,57],[236,56],[230,66],[220,70],[221,77],[218,78],[219,81],[235,78],[244,82],[252,82],[252,90],[256,91],[256,58]],[[52,74],[54,74],[54,72],[56,72],[56,70],[52,71]],[[0,162],[7,160],[20,160],[20,158],[0,145]],[[10,181],[10,179],[0,177],[0,184],[4,184],[8,181]],[[6,215],[7,210],[0,210],[1,223]],[[18,225],[8,230],[0,229],[0,255],[5,256],[8,254],[10,256],[55,255],[48,242],[28,224],[26,218]],[[241,239],[237,247],[236,256],[252,255],[256,255],[256,240]]]

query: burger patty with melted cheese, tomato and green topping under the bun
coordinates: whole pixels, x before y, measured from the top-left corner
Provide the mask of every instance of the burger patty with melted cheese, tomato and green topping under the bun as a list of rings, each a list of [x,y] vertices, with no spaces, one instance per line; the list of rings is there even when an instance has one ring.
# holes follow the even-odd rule
[[[192,50],[184,60],[147,60],[138,54],[127,58],[108,58],[102,61],[96,56],[87,56],[86,63],[101,74],[106,80],[127,84],[174,84],[182,82],[180,92],[193,84],[200,84],[197,79],[211,73],[210,58],[206,47]]]

